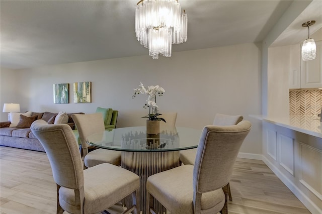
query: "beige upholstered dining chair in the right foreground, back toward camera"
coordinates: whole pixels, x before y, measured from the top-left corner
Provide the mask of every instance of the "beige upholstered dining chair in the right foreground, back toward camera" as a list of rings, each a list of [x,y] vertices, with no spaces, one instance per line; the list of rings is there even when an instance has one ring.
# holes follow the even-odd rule
[[[227,213],[227,189],[233,164],[251,130],[249,121],[233,126],[205,126],[195,165],[182,165],[151,175],[147,179],[146,213],[154,198],[171,213]]]

